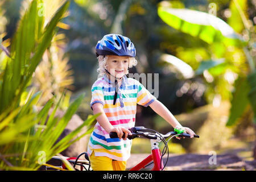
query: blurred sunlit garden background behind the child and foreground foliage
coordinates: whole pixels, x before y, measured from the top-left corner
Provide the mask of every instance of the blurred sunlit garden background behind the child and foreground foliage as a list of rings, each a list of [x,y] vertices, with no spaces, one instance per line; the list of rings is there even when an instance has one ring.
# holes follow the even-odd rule
[[[0,56],[10,51],[30,2],[1,0]],[[45,8],[40,13],[47,23],[65,1],[43,2]],[[97,41],[105,34],[122,34],[137,49],[138,64],[129,72],[159,74],[158,100],[181,125],[200,135],[200,139],[174,139],[170,152],[229,152],[246,160],[256,159],[256,1],[69,2],[68,13],[58,24],[23,97],[36,88],[42,92],[38,105],[44,106],[53,96],[56,103],[65,91],[60,105],[65,110],[85,93],[77,109],[85,120],[92,114],[90,89],[98,75]],[[2,66],[0,72],[3,70]],[[162,133],[172,130],[150,107],[139,105],[136,125]],[[150,141],[134,140],[132,152],[150,152]]]

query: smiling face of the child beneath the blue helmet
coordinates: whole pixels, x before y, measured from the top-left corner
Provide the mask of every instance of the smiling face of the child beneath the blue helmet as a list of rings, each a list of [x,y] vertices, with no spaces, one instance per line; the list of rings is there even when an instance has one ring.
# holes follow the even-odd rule
[[[107,69],[111,75],[121,78],[127,73],[129,57],[109,55],[107,63]]]

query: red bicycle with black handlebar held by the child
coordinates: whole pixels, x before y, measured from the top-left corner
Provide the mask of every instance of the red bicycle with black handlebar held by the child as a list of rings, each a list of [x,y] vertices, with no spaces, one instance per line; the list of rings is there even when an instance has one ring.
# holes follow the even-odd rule
[[[152,171],[162,171],[166,167],[166,164],[168,162],[169,158],[169,149],[168,149],[168,142],[173,138],[173,137],[188,137],[190,138],[191,136],[187,133],[184,133],[184,131],[175,129],[175,131],[171,131],[167,134],[160,134],[155,130],[151,129],[146,129],[143,126],[137,126],[137,127],[132,127],[129,129],[131,131],[131,135],[129,135],[127,138],[128,139],[134,139],[137,137],[144,137],[148,138],[151,141],[151,154],[147,156],[147,158],[143,159],[140,163],[138,163],[136,166],[130,169],[130,171],[139,171],[142,168],[145,168],[149,166],[150,164],[154,163],[154,167],[151,169]],[[110,133],[110,138],[118,138],[117,133]],[[172,137],[171,137],[172,136]],[[167,138],[171,137],[166,141]],[[199,135],[194,135],[195,138],[199,138]],[[123,135],[123,138],[125,138],[125,135]],[[162,151],[162,154],[160,152],[160,148],[158,147],[159,142],[164,142],[164,148]],[[163,165],[163,156],[167,152],[167,160],[165,164]],[[84,155],[85,160],[80,159],[80,157]],[[55,156],[53,159],[59,159],[59,157]],[[76,170],[79,170],[76,168],[76,166],[80,166],[80,170],[90,170],[90,161],[87,152],[82,152],[77,158],[65,158],[68,160],[68,162],[73,164],[73,167]],[[60,160],[61,161],[61,160]],[[60,168],[65,169],[65,164],[61,164],[59,166]]]

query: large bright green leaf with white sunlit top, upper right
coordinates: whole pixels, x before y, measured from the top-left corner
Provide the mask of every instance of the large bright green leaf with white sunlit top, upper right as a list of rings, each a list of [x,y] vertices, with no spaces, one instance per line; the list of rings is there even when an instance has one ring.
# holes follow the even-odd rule
[[[158,15],[169,26],[204,40],[208,44],[224,42],[226,46],[241,46],[241,43],[244,43],[229,24],[212,14],[159,6]]]

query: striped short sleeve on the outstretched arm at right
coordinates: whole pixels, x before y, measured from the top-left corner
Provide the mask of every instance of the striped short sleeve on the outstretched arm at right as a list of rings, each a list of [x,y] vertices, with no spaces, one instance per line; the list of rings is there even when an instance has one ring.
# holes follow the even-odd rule
[[[147,107],[156,98],[138,81],[137,104]]]

